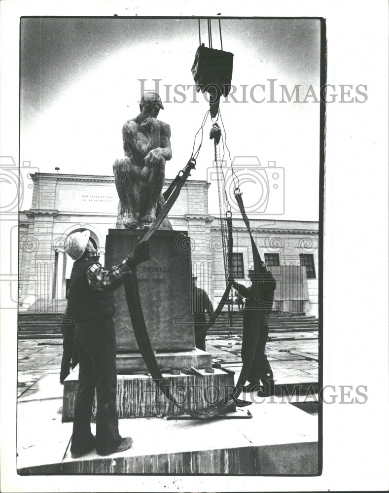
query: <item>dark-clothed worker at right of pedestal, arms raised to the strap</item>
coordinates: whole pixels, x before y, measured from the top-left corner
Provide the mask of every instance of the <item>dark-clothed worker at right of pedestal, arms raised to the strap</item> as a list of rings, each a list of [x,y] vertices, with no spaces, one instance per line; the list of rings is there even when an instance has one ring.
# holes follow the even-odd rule
[[[252,266],[249,266],[248,278],[251,281],[250,287],[238,284],[230,277],[233,287],[246,298],[243,312],[242,361],[249,363],[253,335],[258,330],[258,342],[247,379],[251,386],[260,385],[262,382],[265,387],[264,395],[273,395],[273,372],[265,354],[265,346],[269,333],[268,318],[273,307],[276,280],[264,263],[262,263],[259,274],[255,274]]]

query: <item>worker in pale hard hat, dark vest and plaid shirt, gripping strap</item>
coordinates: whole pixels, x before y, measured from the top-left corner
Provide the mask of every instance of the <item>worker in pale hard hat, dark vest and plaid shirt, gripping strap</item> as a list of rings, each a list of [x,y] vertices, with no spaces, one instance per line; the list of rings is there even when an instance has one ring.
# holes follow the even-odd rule
[[[114,291],[135,267],[149,259],[149,243],[142,242],[119,265],[105,270],[98,262],[90,232],[70,235],[67,252],[73,260],[68,307],[74,317],[74,345],[79,360],[71,457],[93,450],[106,456],[123,452],[132,438],[119,435],[116,410],[116,337],[112,316]],[[91,432],[93,398],[97,392],[96,439]]]

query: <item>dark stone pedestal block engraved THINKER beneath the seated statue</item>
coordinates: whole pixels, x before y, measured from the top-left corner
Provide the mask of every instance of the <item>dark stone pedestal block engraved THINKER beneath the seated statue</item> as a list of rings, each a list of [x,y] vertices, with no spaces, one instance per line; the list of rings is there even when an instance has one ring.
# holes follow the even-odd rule
[[[106,268],[120,263],[143,234],[141,230],[110,229],[106,237]],[[150,260],[137,267],[137,275],[152,348],[164,352],[193,351],[192,273],[187,232],[156,231],[150,240]],[[118,353],[139,352],[124,286],[114,291],[114,297]]]

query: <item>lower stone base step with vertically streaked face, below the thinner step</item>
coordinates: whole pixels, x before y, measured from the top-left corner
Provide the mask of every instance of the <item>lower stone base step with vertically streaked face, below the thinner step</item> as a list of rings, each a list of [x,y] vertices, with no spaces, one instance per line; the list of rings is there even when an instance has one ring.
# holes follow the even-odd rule
[[[204,353],[206,354],[206,353]],[[215,369],[204,375],[172,375],[164,373],[166,385],[177,399],[177,403],[190,410],[197,410],[216,403],[231,392],[234,375]],[[78,366],[71,372],[64,384],[62,421],[73,420],[75,398],[78,387]],[[158,415],[184,414],[172,404],[146,375],[118,375],[116,393],[119,418],[143,418]],[[92,420],[96,417],[96,398]]]

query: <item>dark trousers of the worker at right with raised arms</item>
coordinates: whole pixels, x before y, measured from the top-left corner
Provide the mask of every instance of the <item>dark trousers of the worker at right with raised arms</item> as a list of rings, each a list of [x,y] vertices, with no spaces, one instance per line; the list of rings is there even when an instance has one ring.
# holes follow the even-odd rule
[[[247,308],[245,310],[247,310]],[[255,317],[252,317],[252,319],[254,318]],[[256,330],[259,330],[258,342],[247,379],[252,384],[257,384],[260,380],[264,384],[264,380],[273,380],[273,372],[265,354],[267,336],[269,333],[268,311],[260,313],[259,324],[257,324],[256,327],[251,326],[250,319],[251,317],[244,320],[243,324],[242,361],[244,363],[248,362],[251,353],[253,333]]]

